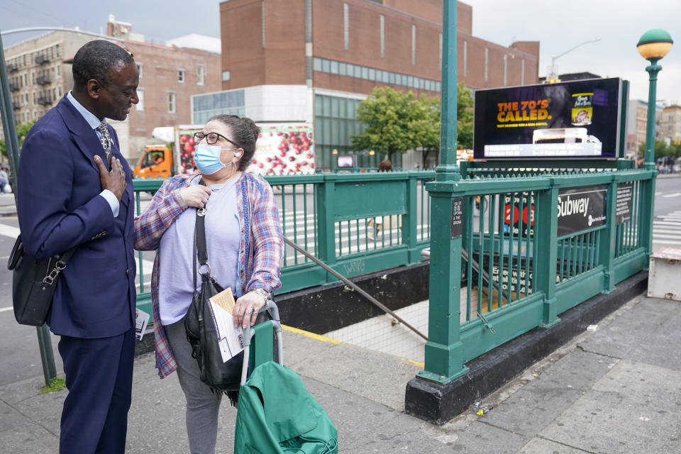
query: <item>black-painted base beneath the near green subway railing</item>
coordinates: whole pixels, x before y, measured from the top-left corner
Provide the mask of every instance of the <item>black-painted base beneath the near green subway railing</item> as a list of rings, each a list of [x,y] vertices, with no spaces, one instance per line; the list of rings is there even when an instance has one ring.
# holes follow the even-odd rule
[[[549,329],[534,328],[467,363],[469,371],[441,384],[415,377],[406,385],[404,411],[443,425],[470,405],[514,379],[538,360],[570,341],[648,287],[648,271],[617,284],[614,292],[600,294],[560,314]]]

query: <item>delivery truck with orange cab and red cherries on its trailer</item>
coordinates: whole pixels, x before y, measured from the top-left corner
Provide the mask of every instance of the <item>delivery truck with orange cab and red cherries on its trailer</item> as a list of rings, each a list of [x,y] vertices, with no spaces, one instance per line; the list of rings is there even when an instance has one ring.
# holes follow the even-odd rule
[[[314,140],[309,123],[258,123],[260,136],[246,172],[260,175],[314,173]],[[154,128],[153,138],[135,165],[135,177],[167,178],[194,172],[194,133],[203,126]]]

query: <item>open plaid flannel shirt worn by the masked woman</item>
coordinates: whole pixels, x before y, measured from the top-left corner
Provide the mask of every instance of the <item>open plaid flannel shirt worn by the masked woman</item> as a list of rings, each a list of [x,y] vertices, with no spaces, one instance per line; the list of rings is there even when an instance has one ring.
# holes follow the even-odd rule
[[[144,213],[135,218],[135,249],[156,250],[167,228],[185,209],[179,190],[189,186],[198,175],[177,175],[167,179],[156,192]],[[274,292],[279,281],[284,239],[279,223],[279,210],[272,187],[265,179],[243,172],[238,181],[237,207],[241,240],[239,247],[236,297],[253,289]],[[248,235],[244,233],[248,232]],[[194,232],[187,232],[193,235]],[[160,254],[156,254],[151,276],[151,304],[156,344],[156,367],[163,378],[177,369],[158,308],[158,275]]]

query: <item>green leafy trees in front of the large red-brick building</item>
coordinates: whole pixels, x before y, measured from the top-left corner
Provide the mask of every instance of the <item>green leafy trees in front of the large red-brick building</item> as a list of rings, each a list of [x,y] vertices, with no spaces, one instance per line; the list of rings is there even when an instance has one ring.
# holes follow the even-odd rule
[[[473,145],[473,96],[470,89],[458,84],[457,147]],[[360,102],[357,119],[365,124],[364,133],[352,135],[356,150],[375,150],[380,155],[406,153],[420,149],[423,162],[440,149],[440,99],[390,87],[376,87]]]

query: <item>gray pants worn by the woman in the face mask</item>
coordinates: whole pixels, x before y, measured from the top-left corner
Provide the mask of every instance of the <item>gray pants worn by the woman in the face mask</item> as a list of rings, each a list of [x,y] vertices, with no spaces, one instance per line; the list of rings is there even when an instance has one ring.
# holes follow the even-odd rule
[[[187,437],[192,454],[214,454],[218,437],[218,411],[222,394],[199,378],[199,365],[192,358],[192,346],[184,332],[184,319],[165,326],[165,333],[177,361],[177,378],[187,399]]]

